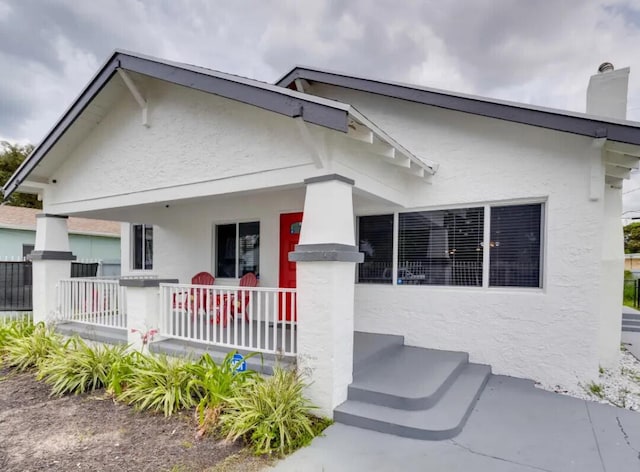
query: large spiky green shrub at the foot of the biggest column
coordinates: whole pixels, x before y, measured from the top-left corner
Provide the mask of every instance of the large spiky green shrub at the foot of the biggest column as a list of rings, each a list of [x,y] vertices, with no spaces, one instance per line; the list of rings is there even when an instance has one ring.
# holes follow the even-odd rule
[[[244,438],[256,454],[288,454],[314,438],[313,405],[303,395],[304,383],[294,370],[275,368],[273,376],[247,382],[220,417],[230,440]]]

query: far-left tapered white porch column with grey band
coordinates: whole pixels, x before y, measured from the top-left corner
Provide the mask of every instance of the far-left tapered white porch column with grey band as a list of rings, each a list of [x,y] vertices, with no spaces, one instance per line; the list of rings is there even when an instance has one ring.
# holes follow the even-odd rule
[[[57,307],[60,279],[71,276],[67,216],[39,213],[36,215],[36,243],[28,256],[33,271],[33,322],[51,321]]]

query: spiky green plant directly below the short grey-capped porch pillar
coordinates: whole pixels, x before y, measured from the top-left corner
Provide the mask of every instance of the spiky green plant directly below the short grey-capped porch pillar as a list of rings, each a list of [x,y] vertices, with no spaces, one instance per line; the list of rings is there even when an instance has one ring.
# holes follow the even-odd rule
[[[126,388],[118,400],[141,410],[162,411],[165,416],[192,408],[200,400],[189,361],[164,354],[140,355],[121,381]]]

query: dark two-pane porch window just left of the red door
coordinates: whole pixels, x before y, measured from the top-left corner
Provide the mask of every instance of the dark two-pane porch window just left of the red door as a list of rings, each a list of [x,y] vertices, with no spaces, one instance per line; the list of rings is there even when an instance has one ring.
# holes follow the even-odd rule
[[[239,278],[260,272],[260,223],[216,226],[216,277]]]

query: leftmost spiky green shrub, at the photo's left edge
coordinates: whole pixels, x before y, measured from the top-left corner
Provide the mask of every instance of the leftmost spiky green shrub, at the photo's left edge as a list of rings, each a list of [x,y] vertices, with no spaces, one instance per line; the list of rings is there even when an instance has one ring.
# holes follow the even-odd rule
[[[19,328],[20,329],[23,329]],[[47,356],[62,349],[62,338],[53,329],[38,323],[30,334],[30,328],[24,328],[16,335],[10,335],[4,347],[7,364],[18,371],[37,367]]]

